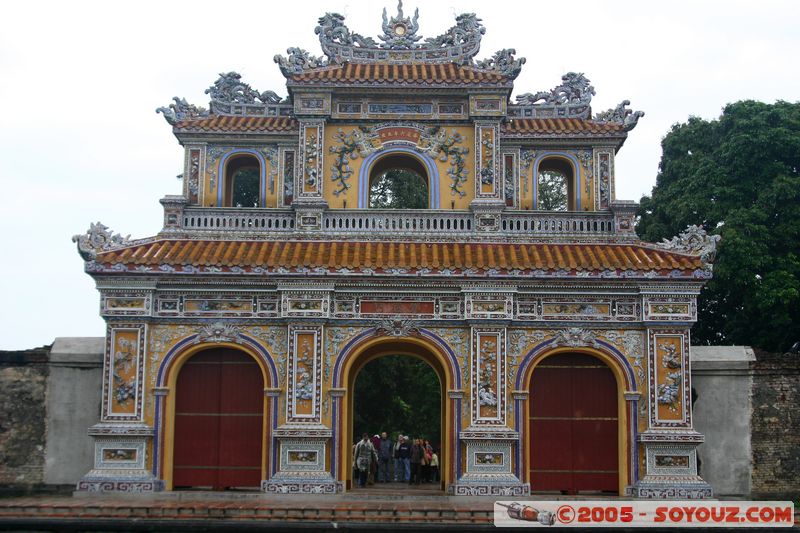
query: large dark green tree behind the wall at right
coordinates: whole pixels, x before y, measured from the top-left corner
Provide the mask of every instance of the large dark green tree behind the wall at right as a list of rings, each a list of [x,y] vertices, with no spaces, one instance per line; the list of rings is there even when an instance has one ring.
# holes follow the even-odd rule
[[[800,103],[729,104],[676,124],[662,148],[639,235],[698,224],[722,236],[693,342],[788,349],[800,340]]]

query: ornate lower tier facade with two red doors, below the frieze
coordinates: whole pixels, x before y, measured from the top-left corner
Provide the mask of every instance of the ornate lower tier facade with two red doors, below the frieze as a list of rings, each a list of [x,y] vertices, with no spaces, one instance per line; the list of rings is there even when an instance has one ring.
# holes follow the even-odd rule
[[[130,310],[136,298],[103,305]],[[436,322],[412,315],[427,312],[424,298],[378,300],[375,318],[350,321],[236,319],[222,299],[198,305],[205,318],[107,316],[95,465],[78,489],[351,490],[359,371],[404,356],[438,378],[434,445],[450,494],[712,496],[697,475],[688,323]]]

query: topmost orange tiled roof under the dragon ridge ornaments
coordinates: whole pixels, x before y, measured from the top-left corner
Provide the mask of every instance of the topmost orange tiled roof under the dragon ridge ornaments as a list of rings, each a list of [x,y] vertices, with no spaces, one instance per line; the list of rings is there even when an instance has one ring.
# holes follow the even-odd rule
[[[479,70],[470,66],[458,66],[453,63],[424,64],[411,63],[392,64],[353,64],[323,67],[303,72],[289,78],[290,83],[297,84],[510,84],[509,78],[498,74]]]

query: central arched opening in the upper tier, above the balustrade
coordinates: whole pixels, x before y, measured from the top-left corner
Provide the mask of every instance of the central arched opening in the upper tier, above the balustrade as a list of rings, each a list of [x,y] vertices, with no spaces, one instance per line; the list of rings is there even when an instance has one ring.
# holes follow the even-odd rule
[[[407,153],[378,159],[369,172],[369,207],[428,209],[429,176],[425,165]]]

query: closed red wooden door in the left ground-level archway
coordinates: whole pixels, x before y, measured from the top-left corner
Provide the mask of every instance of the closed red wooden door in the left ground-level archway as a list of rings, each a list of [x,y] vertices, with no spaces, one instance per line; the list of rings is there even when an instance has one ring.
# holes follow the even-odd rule
[[[181,368],[175,396],[174,487],[258,487],[264,380],[252,357],[205,350]]]

